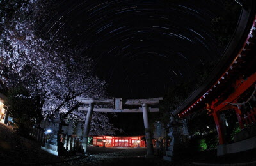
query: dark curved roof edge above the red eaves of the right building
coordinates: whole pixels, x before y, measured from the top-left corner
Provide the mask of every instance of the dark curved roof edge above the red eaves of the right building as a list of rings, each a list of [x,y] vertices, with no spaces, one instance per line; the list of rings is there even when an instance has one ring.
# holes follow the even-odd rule
[[[220,60],[214,66],[205,81],[202,82],[200,87],[198,87],[198,89],[196,89],[196,91],[194,91],[177,109],[173,110],[173,116],[188,109],[188,107],[191,107],[196,101],[199,101],[199,99],[204,96],[205,92],[209,91],[209,89],[212,87],[212,84],[221,78],[223,71],[226,72],[227,64],[232,64],[234,62],[234,59],[237,57],[237,53],[241,50],[241,47],[244,45],[244,41],[248,39],[248,34],[251,32],[253,20],[255,19],[255,8],[255,1],[245,1],[243,10],[241,10],[241,15],[237,23],[236,31],[234,32],[232,40],[230,40],[228,43],[228,46],[223,52]],[[230,66],[228,66],[228,68],[229,67]]]

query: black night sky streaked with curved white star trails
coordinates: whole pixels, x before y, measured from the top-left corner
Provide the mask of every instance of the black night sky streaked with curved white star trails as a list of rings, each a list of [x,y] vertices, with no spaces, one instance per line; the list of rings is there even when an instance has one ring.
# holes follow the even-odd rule
[[[56,4],[58,11],[45,30],[53,36],[78,34],[70,40],[82,46],[81,56],[95,60],[92,74],[106,80],[111,97],[163,96],[168,87],[193,80],[198,66],[217,61],[223,52],[211,31],[212,19],[225,13],[221,0]],[[133,123],[140,121],[143,131],[142,114],[136,118]],[[115,124],[125,128],[125,118],[118,119]],[[134,130],[140,129],[127,127]]]

